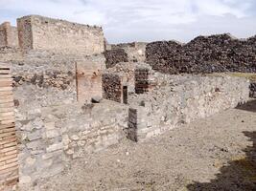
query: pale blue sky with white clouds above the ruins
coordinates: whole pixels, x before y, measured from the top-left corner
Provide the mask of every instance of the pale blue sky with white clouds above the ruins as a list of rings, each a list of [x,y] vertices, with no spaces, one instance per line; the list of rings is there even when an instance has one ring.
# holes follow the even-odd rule
[[[29,14],[102,26],[109,43],[256,34],[256,0],[0,0],[0,22]]]

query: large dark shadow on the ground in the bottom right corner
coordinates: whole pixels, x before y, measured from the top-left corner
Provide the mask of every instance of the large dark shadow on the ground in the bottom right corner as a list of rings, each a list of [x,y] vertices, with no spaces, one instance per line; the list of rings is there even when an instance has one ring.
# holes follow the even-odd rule
[[[256,124],[255,124],[256,125]],[[215,180],[187,185],[189,191],[254,191],[256,190],[256,131],[244,132],[253,146],[244,149],[246,156],[232,159],[222,166]]]

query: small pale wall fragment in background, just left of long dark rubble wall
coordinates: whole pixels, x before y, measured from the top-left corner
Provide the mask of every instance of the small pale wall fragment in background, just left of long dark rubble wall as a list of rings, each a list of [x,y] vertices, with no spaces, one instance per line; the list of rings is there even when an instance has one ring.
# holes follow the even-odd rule
[[[123,43],[111,45],[112,50],[123,49],[128,54],[129,62],[145,62],[146,46],[144,42]]]

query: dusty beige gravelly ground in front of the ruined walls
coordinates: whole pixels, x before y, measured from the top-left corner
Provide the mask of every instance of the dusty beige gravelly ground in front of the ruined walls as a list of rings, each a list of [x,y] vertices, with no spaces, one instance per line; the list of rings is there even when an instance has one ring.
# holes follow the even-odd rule
[[[78,159],[40,190],[256,190],[256,101]]]

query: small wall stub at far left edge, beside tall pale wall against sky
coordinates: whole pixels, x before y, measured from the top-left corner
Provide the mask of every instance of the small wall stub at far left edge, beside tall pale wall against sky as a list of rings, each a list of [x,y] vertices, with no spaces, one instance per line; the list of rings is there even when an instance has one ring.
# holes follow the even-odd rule
[[[0,25],[0,47],[18,47],[17,29],[10,22]]]

